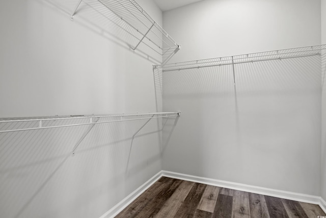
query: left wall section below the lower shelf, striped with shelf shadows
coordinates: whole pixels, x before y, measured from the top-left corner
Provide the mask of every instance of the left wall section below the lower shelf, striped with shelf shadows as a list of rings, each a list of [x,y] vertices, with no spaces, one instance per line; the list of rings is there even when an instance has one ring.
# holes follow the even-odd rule
[[[119,118],[100,119],[104,122]],[[158,144],[158,132],[173,131],[167,124],[176,119],[151,119],[146,126],[146,120],[96,124],[89,132],[89,126],[76,126],[0,133],[2,215],[100,216],[133,191],[126,189],[130,187],[127,183],[142,180],[139,175],[143,169],[157,173],[164,148],[152,145]],[[52,125],[82,122],[56,120]],[[153,131],[158,122],[164,125]],[[37,123],[15,125],[33,127]],[[0,130],[8,128],[0,126]]]

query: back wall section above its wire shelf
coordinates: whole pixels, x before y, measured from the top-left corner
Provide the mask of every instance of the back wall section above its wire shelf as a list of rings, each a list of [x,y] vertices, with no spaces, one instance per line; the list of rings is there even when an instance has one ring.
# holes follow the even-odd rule
[[[182,48],[171,62],[320,43],[320,0],[205,0],[164,12],[163,19]]]

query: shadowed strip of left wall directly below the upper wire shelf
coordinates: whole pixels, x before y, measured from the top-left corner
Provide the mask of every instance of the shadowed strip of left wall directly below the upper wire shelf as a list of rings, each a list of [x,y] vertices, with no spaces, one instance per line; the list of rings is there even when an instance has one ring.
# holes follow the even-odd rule
[[[50,6],[63,12],[67,15],[67,21],[70,21],[70,16],[74,11],[78,0],[35,0],[39,4]],[[46,4],[44,4],[44,2]],[[73,16],[73,24],[82,26],[88,31],[110,40],[111,42],[123,47],[124,49],[147,60],[160,64],[162,61],[162,45],[160,47],[152,45],[152,42],[146,37],[138,45],[143,38],[143,34],[135,28],[130,27],[120,17],[108,10],[99,1],[87,0],[82,1]],[[137,21],[137,18],[134,18]],[[138,46],[137,46],[138,45]],[[137,46],[137,49],[134,48]],[[168,53],[170,53],[168,51]]]

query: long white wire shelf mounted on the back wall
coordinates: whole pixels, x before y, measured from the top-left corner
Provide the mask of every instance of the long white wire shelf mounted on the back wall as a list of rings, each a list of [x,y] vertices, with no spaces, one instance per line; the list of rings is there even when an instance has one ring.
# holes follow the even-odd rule
[[[220,58],[210,58],[203,60],[185,61],[178,63],[169,63],[154,65],[154,69],[160,69],[164,71],[174,71],[182,69],[193,69],[209,66],[222,66],[222,65],[234,65],[240,63],[256,62],[256,61],[266,61],[266,60],[277,60],[286,58],[297,58],[297,57],[307,57],[320,55],[322,50],[326,50],[326,44],[313,45],[306,47],[296,47],[293,49],[275,50],[260,53],[251,53],[236,56],[227,56]]]

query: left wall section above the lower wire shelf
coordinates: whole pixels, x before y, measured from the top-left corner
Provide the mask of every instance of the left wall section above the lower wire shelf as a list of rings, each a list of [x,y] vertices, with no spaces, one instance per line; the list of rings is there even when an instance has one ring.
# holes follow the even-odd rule
[[[100,29],[105,20],[85,4],[74,22],[66,22],[68,14],[54,19],[59,9],[46,3],[12,6],[21,13],[10,21],[5,6],[11,4],[2,3],[6,28],[1,42],[0,93],[6,102],[0,109],[2,117],[150,111],[155,102],[139,97],[154,98],[153,83],[146,81],[152,80],[152,62],[108,40]],[[75,1],[60,3],[74,7]],[[86,15],[104,24],[92,26]],[[135,69],[148,72],[147,78],[135,74]]]

